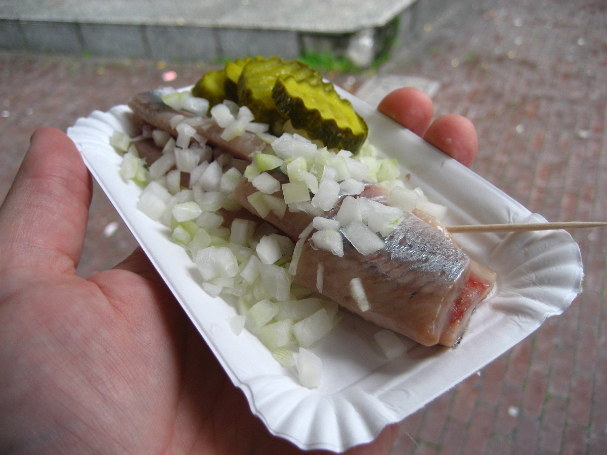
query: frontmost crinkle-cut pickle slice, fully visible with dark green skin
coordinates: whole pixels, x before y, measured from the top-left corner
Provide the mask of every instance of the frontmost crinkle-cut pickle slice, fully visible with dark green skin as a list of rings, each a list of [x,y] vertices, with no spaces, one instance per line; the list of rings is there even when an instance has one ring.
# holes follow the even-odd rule
[[[320,140],[329,149],[357,152],[367,139],[367,123],[333,84],[284,76],[277,79],[272,96],[294,128],[305,130],[311,140]]]

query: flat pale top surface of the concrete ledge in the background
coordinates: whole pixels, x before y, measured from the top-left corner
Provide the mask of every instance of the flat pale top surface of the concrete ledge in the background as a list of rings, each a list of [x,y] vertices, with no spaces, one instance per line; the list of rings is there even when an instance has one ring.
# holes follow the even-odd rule
[[[354,33],[382,27],[416,0],[0,0],[0,18]]]

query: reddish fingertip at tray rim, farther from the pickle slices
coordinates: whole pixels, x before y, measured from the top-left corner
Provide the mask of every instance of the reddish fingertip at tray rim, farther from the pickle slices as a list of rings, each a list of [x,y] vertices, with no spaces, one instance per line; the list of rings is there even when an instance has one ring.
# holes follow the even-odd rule
[[[478,138],[472,122],[457,114],[447,114],[432,122],[424,140],[470,167],[478,152]]]

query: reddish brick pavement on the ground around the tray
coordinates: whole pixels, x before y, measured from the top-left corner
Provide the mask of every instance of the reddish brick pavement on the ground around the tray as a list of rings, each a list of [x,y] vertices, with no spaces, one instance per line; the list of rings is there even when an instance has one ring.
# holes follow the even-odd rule
[[[600,0],[460,1],[379,72],[440,81],[436,113],[462,113],[478,129],[474,170],[531,211],[551,221],[605,220],[606,23]],[[92,109],[166,85],[168,70],[177,73],[170,84],[183,86],[208,68],[0,54],[0,198],[36,127],[66,129]],[[366,75],[336,77],[356,87]],[[83,275],[114,265],[135,244],[99,190],[91,214]],[[607,230],[573,235],[585,262],[580,297],[406,419],[393,453],[605,451]]]

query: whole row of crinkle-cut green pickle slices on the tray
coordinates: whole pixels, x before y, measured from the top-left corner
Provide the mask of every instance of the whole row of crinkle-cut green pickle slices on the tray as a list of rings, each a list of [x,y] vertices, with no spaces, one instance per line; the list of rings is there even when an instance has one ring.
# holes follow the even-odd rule
[[[290,120],[294,129],[329,149],[355,153],[367,139],[367,124],[350,101],[296,60],[257,56],[229,61],[222,70],[204,75],[192,95],[208,99],[211,106],[231,99],[251,109],[255,120],[276,134]]]

